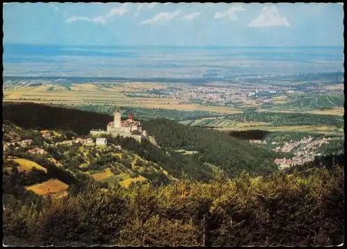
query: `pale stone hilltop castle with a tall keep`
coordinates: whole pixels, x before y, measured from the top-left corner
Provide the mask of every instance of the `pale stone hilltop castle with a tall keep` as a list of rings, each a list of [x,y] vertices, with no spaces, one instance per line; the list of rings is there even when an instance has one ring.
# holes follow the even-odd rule
[[[142,130],[141,123],[135,121],[133,114],[128,114],[128,119],[121,121],[121,113],[114,113],[113,122],[108,123],[106,130],[90,130],[90,135],[111,135],[112,137],[133,137],[141,140],[141,137],[147,137],[146,130]]]

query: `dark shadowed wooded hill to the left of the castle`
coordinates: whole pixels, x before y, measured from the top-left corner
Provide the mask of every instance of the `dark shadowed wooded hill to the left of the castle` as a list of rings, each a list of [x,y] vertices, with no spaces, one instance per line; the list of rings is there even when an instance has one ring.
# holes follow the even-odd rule
[[[105,130],[113,118],[107,114],[37,103],[3,103],[3,119],[25,129],[72,130],[78,135],[87,135],[90,129]]]

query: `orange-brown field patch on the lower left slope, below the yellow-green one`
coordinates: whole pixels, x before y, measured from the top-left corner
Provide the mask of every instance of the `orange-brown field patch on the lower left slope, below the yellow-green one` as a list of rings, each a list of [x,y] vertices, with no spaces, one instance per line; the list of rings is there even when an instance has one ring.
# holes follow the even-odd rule
[[[62,197],[67,195],[67,187],[69,187],[69,185],[64,182],[58,179],[51,179],[46,182],[28,186],[26,189],[29,191],[31,190],[40,196],[51,194],[54,197]]]

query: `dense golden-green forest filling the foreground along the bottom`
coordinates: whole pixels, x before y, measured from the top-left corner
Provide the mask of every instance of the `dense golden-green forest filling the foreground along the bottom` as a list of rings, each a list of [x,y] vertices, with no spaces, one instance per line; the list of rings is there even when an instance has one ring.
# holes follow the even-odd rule
[[[78,175],[60,199],[26,191],[13,169],[3,177],[3,243],[336,246],[344,241],[344,155],[337,157],[263,178],[244,171],[232,181],[161,187],[121,189]]]

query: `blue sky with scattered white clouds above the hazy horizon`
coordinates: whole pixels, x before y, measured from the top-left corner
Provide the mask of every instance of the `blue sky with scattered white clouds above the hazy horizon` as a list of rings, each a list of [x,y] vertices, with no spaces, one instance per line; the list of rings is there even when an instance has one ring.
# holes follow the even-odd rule
[[[341,3],[6,3],[3,43],[344,46]]]

